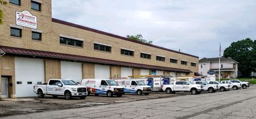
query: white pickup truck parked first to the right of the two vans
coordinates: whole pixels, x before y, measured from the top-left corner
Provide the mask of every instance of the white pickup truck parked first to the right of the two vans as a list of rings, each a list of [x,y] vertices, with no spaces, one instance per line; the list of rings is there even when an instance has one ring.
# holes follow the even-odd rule
[[[167,94],[175,94],[175,92],[191,92],[192,95],[201,94],[204,90],[203,85],[194,84],[190,81],[179,80],[175,81],[174,84],[165,84],[161,86],[162,90]]]

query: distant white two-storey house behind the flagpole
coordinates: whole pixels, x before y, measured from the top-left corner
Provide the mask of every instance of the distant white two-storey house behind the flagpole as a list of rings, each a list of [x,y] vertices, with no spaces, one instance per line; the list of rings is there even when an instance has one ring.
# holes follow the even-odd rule
[[[237,78],[238,62],[232,58],[221,57],[221,76],[220,78]],[[199,73],[208,75],[209,71],[215,71],[218,76],[218,57],[217,58],[202,58],[199,60]]]

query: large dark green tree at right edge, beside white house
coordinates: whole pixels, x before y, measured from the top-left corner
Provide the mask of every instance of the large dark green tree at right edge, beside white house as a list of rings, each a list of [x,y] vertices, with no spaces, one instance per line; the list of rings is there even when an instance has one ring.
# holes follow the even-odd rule
[[[255,43],[249,38],[232,42],[232,44],[224,50],[224,57],[231,57],[238,63],[238,70],[241,71],[243,77],[250,76],[251,71],[255,71]]]

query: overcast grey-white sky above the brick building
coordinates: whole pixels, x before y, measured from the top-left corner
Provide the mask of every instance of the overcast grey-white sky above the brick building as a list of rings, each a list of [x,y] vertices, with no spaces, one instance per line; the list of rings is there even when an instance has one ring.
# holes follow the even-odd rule
[[[218,57],[231,42],[256,37],[256,1],[52,0],[52,17],[154,45]]]

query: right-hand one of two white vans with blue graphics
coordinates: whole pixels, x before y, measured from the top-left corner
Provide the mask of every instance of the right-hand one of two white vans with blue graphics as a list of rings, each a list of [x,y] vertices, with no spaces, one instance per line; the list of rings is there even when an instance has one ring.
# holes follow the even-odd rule
[[[147,86],[141,80],[116,80],[119,86],[125,88],[125,93],[133,93],[137,95],[148,95],[151,93],[151,87]]]

